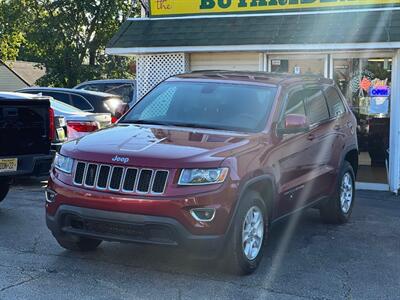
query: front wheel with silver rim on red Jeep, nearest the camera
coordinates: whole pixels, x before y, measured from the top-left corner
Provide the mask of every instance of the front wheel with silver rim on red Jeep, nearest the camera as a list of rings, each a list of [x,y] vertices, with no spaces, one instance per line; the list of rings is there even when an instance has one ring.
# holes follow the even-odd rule
[[[247,192],[241,199],[226,246],[225,265],[234,274],[248,275],[259,266],[268,235],[268,217],[259,193]]]

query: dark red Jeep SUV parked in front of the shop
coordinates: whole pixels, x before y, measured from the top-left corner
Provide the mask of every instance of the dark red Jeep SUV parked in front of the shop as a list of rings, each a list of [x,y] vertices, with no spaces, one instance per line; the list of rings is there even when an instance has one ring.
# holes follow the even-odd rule
[[[273,222],[308,207],[327,222],[349,219],[357,147],[356,119],[331,80],[178,75],[114,127],[63,145],[47,225],[70,250],[179,246],[251,273]]]

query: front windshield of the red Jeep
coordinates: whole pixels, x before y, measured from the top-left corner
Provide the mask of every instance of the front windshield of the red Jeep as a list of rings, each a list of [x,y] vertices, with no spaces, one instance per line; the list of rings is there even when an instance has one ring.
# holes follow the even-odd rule
[[[165,82],[120,123],[172,125],[243,132],[265,127],[275,87],[209,82]]]

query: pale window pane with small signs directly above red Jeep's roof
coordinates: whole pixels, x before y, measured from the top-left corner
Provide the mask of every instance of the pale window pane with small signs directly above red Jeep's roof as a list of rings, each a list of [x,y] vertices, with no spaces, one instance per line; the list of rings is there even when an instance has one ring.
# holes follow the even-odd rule
[[[328,58],[324,54],[315,55],[269,55],[268,70],[277,73],[297,75],[328,76]]]

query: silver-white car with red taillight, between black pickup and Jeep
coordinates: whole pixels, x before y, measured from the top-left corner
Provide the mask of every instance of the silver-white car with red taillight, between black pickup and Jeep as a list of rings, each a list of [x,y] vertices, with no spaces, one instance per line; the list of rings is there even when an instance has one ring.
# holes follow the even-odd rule
[[[69,104],[51,99],[51,108],[57,116],[66,120],[67,136],[74,140],[111,125],[111,114],[84,112]]]

